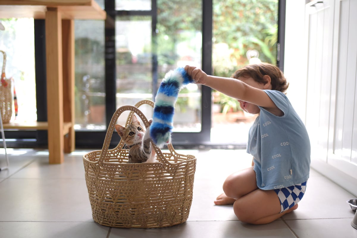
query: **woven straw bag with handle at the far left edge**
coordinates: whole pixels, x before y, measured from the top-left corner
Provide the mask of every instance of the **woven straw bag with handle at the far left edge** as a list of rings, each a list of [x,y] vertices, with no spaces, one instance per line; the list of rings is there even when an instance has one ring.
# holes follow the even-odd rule
[[[6,53],[2,50],[0,52],[4,55],[0,81],[0,111],[2,123],[9,123],[12,116],[11,79],[6,79],[5,76]]]

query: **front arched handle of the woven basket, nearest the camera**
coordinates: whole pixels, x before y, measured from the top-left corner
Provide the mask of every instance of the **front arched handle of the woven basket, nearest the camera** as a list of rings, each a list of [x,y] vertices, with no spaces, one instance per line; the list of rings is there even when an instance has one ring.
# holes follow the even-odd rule
[[[115,123],[118,120],[119,116],[121,115],[122,112],[124,111],[131,111],[131,112],[135,112],[142,120],[142,122],[144,123],[145,127],[147,128],[149,126],[149,121],[147,120],[147,118],[145,117],[145,115],[139,110],[139,108],[135,107],[135,106],[131,106],[131,105],[126,105],[126,106],[121,106],[119,107],[114,115],[111,118],[110,124],[108,126],[108,130],[104,139],[104,143],[103,143],[103,147],[102,150],[100,152],[100,157],[98,160],[98,163],[100,166],[103,165],[104,162],[104,157],[107,154],[107,151],[109,149],[109,145],[110,145],[110,141],[111,141],[111,137],[113,135],[114,132],[114,128],[115,128]],[[156,151],[156,154],[158,155],[157,157],[160,158],[160,162],[166,164],[166,166],[170,165],[170,162],[164,157],[164,155],[162,154],[160,148],[158,148],[153,142],[151,142],[154,150]]]

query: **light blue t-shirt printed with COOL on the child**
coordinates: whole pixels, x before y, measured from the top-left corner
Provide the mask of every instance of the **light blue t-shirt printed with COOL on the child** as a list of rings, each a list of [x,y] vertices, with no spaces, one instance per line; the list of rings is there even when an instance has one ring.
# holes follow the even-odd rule
[[[254,159],[257,186],[283,188],[307,181],[310,173],[310,140],[304,123],[280,91],[264,90],[283,111],[279,117],[260,108],[249,130],[247,152]]]

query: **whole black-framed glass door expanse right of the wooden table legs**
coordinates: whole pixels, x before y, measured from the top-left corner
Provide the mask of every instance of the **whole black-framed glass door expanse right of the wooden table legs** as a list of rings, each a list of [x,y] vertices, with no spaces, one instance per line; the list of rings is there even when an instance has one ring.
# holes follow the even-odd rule
[[[283,20],[277,19],[284,2],[105,0],[106,21],[76,22],[76,146],[101,147],[115,110],[154,100],[169,70],[195,65],[229,77],[258,54],[261,61],[281,66],[282,57],[276,56],[283,52],[281,44],[277,52],[283,34],[277,29]],[[255,117],[241,115],[235,101],[206,86],[183,88],[175,105],[175,148],[245,147]],[[152,117],[152,108],[140,109]],[[123,113],[118,123],[125,120]],[[228,131],[237,133],[222,136]],[[118,142],[113,136],[111,146]]]

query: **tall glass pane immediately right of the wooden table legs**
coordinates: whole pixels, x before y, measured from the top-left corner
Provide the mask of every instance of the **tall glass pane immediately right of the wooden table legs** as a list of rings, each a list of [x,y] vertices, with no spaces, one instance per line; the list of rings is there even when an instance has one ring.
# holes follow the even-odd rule
[[[106,130],[104,21],[75,21],[75,111],[76,130]]]

